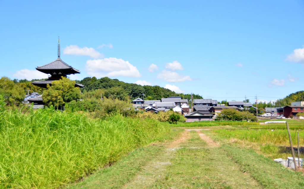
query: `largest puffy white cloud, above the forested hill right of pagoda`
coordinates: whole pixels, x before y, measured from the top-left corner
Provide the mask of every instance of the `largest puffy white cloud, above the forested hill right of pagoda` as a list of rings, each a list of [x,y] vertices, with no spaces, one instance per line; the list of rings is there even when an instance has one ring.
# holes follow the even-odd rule
[[[85,68],[90,76],[95,77],[141,77],[136,66],[117,58],[88,60]]]

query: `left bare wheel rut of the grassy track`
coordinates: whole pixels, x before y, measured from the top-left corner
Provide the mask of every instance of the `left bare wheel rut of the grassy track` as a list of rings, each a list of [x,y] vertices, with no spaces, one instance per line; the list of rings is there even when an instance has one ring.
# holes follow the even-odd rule
[[[188,134],[189,131],[185,130],[178,140],[169,143],[168,148],[164,150],[162,155],[156,157],[153,161],[144,166],[140,174],[123,188],[148,188],[156,179],[164,178],[164,171],[166,170],[166,166],[171,164],[171,158],[176,151],[175,149],[178,148],[180,143],[189,139]]]

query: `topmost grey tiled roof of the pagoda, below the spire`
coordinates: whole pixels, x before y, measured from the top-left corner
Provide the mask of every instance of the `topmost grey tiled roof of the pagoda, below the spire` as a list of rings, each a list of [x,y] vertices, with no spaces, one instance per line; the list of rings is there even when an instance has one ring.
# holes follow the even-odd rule
[[[50,70],[69,70],[71,74],[80,73],[78,69],[73,68],[72,66],[68,65],[64,61],[62,61],[60,58],[57,60],[48,63],[44,66],[37,66],[36,70],[43,72],[43,73],[49,73]]]

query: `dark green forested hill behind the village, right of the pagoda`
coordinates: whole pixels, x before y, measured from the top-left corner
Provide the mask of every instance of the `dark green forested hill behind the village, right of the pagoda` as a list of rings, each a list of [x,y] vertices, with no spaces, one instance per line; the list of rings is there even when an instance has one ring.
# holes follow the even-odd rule
[[[130,96],[131,100],[136,99],[137,97],[143,98],[143,93],[145,94],[145,100],[161,100],[161,98],[168,98],[170,96],[181,96],[182,99],[188,99],[190,101],[191,96],[191,94],[175,93],[174,91],[160,86],[141,86],[134,83],[125,83],[118,79],[110,79],[108,77],[100,79],[97,79],[96,77],[86,77],[81,81],[76,80],[76,83],[85,86],[81,89],[82,92],[96,89],[112,88],[116,91],[123,89],[123,91]],[[193,94],[193,98],[202,99],[202,96]]]

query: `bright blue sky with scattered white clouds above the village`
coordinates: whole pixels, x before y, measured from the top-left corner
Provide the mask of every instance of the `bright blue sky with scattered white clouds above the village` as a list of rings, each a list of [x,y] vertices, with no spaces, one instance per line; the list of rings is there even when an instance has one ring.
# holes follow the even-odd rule
[[[43,78],[35,67],[57,59],[60,35],[74,79],[251,102],[304,90],[300,0],[0,1],[0,17],[0,75],[11,79]]]

